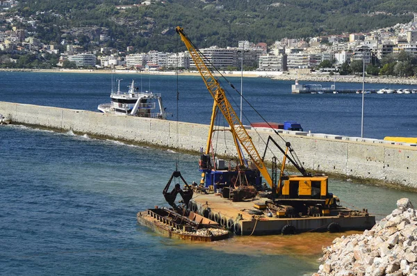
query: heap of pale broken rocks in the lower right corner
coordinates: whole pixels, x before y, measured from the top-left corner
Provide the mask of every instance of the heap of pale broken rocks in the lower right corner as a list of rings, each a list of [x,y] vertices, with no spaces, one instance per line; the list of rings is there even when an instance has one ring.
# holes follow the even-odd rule
[[[407,198],[363,234],[342,236],[327,247],[313,276],[417,275],[417,216]]]

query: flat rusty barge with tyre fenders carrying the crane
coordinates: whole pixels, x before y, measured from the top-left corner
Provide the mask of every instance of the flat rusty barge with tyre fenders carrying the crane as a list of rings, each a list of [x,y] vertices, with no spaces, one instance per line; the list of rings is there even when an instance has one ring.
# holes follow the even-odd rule
[[[270,211],[254,206],[265,206],[265,197],[244,202],[233,202],[220,194],[197,194],[190,202],[191,210],[213,219],[236,235],[295,234],[301,232],[363,231],[375,225],[375,216],[367,210],[354,211],[343,206],[332,209],[326,216],[297,216],[278,218]]]

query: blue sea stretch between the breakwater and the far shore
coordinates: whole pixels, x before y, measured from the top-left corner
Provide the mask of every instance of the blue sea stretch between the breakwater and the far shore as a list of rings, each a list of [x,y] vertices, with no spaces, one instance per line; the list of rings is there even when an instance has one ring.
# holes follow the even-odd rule
[[[120,89],[124,92],[134,80],[139,91],[161,93],[163,105],[171,114],[169,120],[176,120],[178,115],[184,122],[210,124],[213,98],[199,76],[0,72],[0,101],[97,111],[99,104],[110,102],[112,80],[113,90],[117,90],[116,79],[122,79]],[[244,78],[241,91],[244,99],[240,105],[240,78],[227,76],[229,82],[220,81],[239,117],[242,108],[243,124],[263,119],[280,123],[294,120],[312,133],[361,136],[361,94],[291,94],[293,81]],[[329,87],[333,83],[319,84]],[[336,88],[361,90],[362,83],[336,83]],[[417,86],[365,85],[365,89],[380,88],[417,89]],[[416,101],[417,94],[364,95],[363,136],[416,137]]]

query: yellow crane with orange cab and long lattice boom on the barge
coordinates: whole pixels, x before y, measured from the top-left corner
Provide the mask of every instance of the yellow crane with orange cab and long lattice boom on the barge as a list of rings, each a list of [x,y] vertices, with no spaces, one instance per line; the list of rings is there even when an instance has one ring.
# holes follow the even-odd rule
[[[229,124],[236,150],[238,152],[240,165],[243,165],[244,159],[242,151],[245,151],[247,156],[249,156],[252,160],[252,163],[256,165],[256,168],[262,174],[265,182],[272,188],[272,200],[268,203],[268,206],[271,209],[275,209],[279,216],[293,216],[294,213],[313,214],[316,212],[316,209],[319,209],[320,213],[323,215],[327,215],[330,213],[329,209],[336,208],[337,197],[334,197],[332,193],[328,193],[328,177],[322,174],[312,176],[307,173],[306,170],[302,168],[302,165],[299,165],[297,160],[294,161],[288,155],[288,152],[291,154],[293,153],[291,144],[286,142],[286,149],[284,150],[275,142],[275,140],[272,139],[271,136],[268,137],[265,152],[268,148],[268,144],[272,142],[279,148],[281,153],[284,154],[284,160],[281,164],[279,179],[277,179],[277,166],[274,162],[272,166],[273,177],[270,176],[263,158],[261,158],[261,155],[256,150],[256,147],[252,142],[252,138],[249,133],[247,133],[238,115],[236,115],[234,108],[231,106],[225,95],[224,89],[220,86],[219,81],[215,79],[206,63],[204,63],[204,56],[190,41],[181,27],[177,27],[176,31],[186,45],[191,58],[193,58],[195,67],[197,67],[199,74],[202,76],[202,79],[206,84],[208,92],[210,92],[214,99],[210,130],[207,138],[206,155],[208,155],[211,148],[210,145],[211,139],[213,138],[215,114],[218,108]],[[277,131],[275,133],[277,133]],[[295,168],[302,173],[302,175],[284,175],[284,166],[287,160],[290,161]],[[200,169],[202,165],[201,162],[202,161],[200,160]],[[211,168],[207,169],[211,170]],[[202,172],[203,182],[206,171]]]

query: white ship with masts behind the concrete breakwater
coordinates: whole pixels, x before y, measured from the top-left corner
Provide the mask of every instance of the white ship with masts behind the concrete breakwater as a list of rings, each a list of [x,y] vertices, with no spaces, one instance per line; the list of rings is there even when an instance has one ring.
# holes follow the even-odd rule
[[[149,91],[138,92],[135,86],[135,81],[132,80],[128,92],[120,91],[120,81],[117,79],[117,92],[111,92],[111,103],[99,104],[98,110],[103,113],[116,115],[130,115],[138,117],[149,117],[166,119],[167,113],[163,108],[162,98],[160,93],[152,93]],[[154,112],[158,103],[158,112]]]

